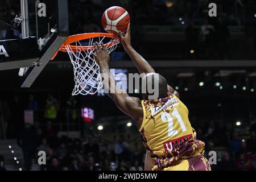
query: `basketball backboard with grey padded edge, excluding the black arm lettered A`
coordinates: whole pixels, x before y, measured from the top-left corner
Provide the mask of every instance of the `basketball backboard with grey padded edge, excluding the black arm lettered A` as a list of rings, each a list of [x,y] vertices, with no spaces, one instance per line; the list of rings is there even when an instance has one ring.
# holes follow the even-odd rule
[[[34,68],[24,69],[23,88],[29,88],[69,35],[68,0],[20,0],[23,38],[35,36],[40,60]],[[22,71],[22,70],[20,70]]]

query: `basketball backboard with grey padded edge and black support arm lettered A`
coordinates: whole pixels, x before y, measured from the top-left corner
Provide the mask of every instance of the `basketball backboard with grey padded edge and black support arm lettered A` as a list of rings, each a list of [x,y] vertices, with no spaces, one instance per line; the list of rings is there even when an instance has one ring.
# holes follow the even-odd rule
[[[21,68],[29,88],[68,38],[68,0],[20,0],[20,19],[22,39],[0,41],[0,70]]]

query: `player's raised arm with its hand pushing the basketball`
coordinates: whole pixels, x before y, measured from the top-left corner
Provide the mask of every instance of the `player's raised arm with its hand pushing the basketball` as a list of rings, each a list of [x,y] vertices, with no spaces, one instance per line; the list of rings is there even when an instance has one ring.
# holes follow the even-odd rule
[[[151,67],[150,64],[141,56],[135,49],[131,46],[131,26],[129,24],[127,28],[126,35],[123,35],[121,31],[119,31],[119,36],[121,38],[121,42],[123,44],[123,48],[130,56],[131,60],[137,67],[139,73],[147,74],[147,73],[155,73],[155,70]]]

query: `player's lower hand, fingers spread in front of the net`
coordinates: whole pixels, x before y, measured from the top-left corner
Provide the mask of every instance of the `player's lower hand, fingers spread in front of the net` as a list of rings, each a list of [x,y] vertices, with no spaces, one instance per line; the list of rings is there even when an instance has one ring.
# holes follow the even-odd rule
[[[110,61],[109,51],[106,50],[104,43],[101,43],[101,45],[99,45],[96,42],[93,44],[93,46],[96,53],[92,53],[92,55],[95,57],[95,60],[97,61],[97,63],[98,64],[109,63]]]

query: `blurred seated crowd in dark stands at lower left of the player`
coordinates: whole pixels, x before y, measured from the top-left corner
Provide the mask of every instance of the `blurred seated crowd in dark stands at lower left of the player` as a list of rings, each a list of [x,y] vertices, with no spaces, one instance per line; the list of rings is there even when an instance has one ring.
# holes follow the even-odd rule
[[[24,155],[27,170],[31,169],[32,158],[38,151],[45,151],[47,154],[47,164],[41,166],[43,171],[129,171],[143,169],[144,151],[139,154],[131,152],[123,135],[114,144],[100,141],[100,138],[94,135],[87,135],[83,142],[81,139],[71,139],[65,135],[57,137],[50,124],[47,129],[42,130],[42,133],[38,131],[40,129],[31,126],[26,127],[20,138],[22,142],[31,140],[26,136],[32,137],[32,133],[35,134],[33,137],[39,139],[38,143],[31,140],[33,143],[28,144],[28,147],[34,146],[34,148],[28,149],[22,146],[24,154],[31,154],[31,156]],[[107,150],[102,150],[100,146],[107,148]]]

